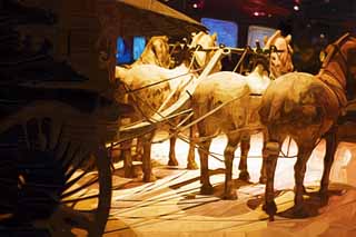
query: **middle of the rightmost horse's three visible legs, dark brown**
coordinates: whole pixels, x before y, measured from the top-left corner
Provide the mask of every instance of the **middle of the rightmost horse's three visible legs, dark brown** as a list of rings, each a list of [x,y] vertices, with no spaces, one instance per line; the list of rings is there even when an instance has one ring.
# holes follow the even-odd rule
[[[307,167],[307,161],[312,155],[312,151],[314,149],[314,144],[315,141],[304,141],[298,146],[298,156],[297,156],[297,161],[294,166],[294,176],[295,176],[295,181],[296,181],[296,187],[295,187],[295,215],[298,217],[307,217],[308,213],[304,208],[304,198],[303,195],[305,192],[304,188],[304,177],[306,172],[306,167]],[[312,145],[312,146],[310,146]]]

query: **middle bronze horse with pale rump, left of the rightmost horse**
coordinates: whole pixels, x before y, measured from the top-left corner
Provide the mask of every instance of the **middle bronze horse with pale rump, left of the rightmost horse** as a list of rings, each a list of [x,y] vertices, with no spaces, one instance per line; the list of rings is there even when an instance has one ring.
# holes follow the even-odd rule
[[[266,47],[275,46],[283,52],[273,52],[273,62],[269,65],[274,76],[293,69],[291,50],[288,49],[290,36],[283,37],[276,31],[267,41]],[[239,160],[239,179],[248,180],[247,155],[249,151],[250,136],[264,131],[259,122],[258,108],[261,101],[260,96],[265,92],[270,82],[267,67],[261,61],[256,62],[255,70],[249,76],[243,76],[231,71],[220,71],[208,76],[200,81],[191,98],[191,107],[195,119],[208,115],[215,108],[224,105],[219,110],[204,118],[197,124],[199,138],[199,158],[201,170],[201,188],[204,195],[210,195],[214,188],[208,175],[208,157],[212,138],[225,134],[228,138],[224,151],[225,192],[224,198],[236,199],[237,195],[233,189],[233,161],[235,150],[240,144],[241,157]],[[267,63],[265,63],[267,65]],[[255,96],[251,96],[255,95]],[[260,180],[265,180],[265,162],[260,172]]]

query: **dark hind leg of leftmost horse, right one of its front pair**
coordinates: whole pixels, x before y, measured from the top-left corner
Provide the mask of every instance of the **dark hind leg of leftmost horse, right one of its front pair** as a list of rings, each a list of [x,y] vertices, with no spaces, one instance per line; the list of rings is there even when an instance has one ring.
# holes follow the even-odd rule
[[[144,155],[142,155],[142,171],[144,171],[144,181],[155,181],[156,177],[152,174],[151,166],[151,145],[155,136],[155,131],[144,135]]]

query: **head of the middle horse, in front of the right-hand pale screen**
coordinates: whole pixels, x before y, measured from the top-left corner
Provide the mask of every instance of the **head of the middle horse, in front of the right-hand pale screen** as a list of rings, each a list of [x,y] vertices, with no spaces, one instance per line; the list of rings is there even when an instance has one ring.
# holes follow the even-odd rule
[[[291,36],[283,37],[280,30],[277,30],[266,42],[266,48],[276,47],[277,51],[270,53],[269,73],[271,78],[277,78],[281,75],[294,70],[290,47]]]

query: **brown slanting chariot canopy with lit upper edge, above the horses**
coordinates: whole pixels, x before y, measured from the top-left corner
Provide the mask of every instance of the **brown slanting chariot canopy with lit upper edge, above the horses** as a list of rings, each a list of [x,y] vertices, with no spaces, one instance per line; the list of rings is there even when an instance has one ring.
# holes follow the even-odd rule
[[[105,9],[119,34],[125,36],[184,36],[207,31],[198,21],[157,0],[111,0]],[[102,6],[102,4],[101,4]]]

